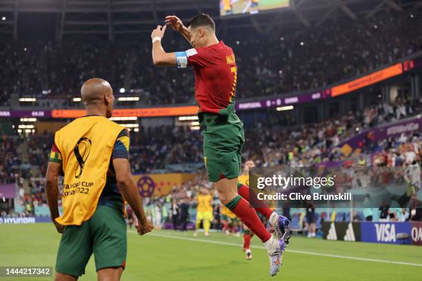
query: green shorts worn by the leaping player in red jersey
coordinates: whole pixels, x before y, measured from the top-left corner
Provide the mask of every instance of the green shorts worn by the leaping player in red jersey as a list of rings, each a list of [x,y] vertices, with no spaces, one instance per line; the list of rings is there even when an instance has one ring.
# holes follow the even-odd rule
[[[241,153],[245,135],[243,123],[234,112],[228,115],[201,113],[203,131],[203,161],[208,180],[237,178],[241,173]]]

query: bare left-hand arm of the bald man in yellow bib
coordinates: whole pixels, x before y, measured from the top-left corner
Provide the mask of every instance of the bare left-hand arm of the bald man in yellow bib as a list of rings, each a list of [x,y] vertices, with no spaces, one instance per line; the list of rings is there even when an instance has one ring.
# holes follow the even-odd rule
[[[59,163],[50,162],[48,163],[46,173],[46,193],[48,207],[50,208],[50,215],[54,226],[59,233],[63,233],[64,226],[56,222],[56,218],[59,218],[59,175],[61,165]]]

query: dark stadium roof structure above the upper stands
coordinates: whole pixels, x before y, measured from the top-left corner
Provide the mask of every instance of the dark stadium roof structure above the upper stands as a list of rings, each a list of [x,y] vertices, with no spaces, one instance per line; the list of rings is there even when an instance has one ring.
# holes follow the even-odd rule
[[[278,25],[299,23],[310,27],[338,17],[364,20],[377,12],[408,12],[417,6],[422,6],[421,0],[290,0],[290,8],[219,17],[219,0],[1,0],[0,34],[17,39],[18,18],[28,12],[55,13],[59,40],[72,34],[97,34],[113,40],[125,34],[150,32],[151,26],[162,24],[167,14],[186,20],[207,12],[221,22],[220,31],[253,27],[268,33]]]

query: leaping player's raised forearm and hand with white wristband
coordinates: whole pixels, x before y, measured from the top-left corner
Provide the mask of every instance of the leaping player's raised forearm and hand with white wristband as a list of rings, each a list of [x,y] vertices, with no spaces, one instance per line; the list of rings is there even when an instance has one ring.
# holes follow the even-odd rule
[[[164,25],[163,27],[158,25],[157,28],[152,30],[152,61],[154,65],[158,66],[176,66],[176,54],[174,54],[174,52],[165,52],[161,45],[161,39],[163,39],[165,28],[167,28],[167,25]]]

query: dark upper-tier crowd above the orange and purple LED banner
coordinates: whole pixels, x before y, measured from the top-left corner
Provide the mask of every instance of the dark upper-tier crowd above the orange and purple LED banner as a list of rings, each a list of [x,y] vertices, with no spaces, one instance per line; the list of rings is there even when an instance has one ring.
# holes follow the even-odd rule
[[[325,87],[393,63],[422,49],[421,26],[419,7],[412,14],[392,12],[366,21],[338,19],[307,29],[274,30],[271,37],[249,29],[221,39],[237,55],[237,96],[248,98]],[[163,43],[169,51],[189,48],[170,30]],[[158,71],[148,40],[1,41],[0,61],[0,105],[10,105],[11,94],[18,94],[49,98],[43,103],[47,107],[79,106],[71,98],[79,96],[81,83],[92,76],[107,79],[116,92],[125,88],[126,95],[140,96],[143,105],[192,103],[194,98],[192,71]]]

